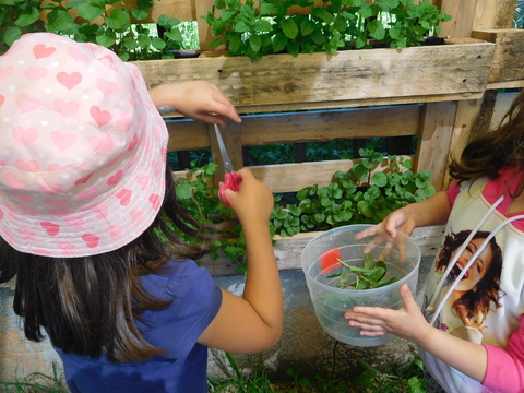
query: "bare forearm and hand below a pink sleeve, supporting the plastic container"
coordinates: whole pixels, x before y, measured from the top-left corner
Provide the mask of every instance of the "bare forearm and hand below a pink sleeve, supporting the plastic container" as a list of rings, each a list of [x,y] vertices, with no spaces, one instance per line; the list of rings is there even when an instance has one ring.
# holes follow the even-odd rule
[[[352,326],[361,329],[361,335],[380,336],[393,333],[414,342],[451,367],[483,382],[488,361],[486,348],[431,326],[406,284],[401,287],[400,293],[404,301],[404,307],[400,310],[355,307],[354,312],[346,312],[345,317],[349,319]]]

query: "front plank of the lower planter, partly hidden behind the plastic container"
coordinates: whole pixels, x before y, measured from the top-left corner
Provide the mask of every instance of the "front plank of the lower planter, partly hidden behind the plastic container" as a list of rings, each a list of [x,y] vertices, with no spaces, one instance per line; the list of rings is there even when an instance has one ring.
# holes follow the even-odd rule
[[[419,247],[421,257],[437,255],[440,245],[442,243],[444,228],[445,226],[443,225],[415,228],[412,238]],[[276,243],[274,250],[278,270],[301,269],[300,261],[303,248],[320,234],[322,233],[305,233],[286,238],[275,236],[274,239],[276,240]],[[237,274],[236,269],[238,265],[223,255],[216,261],[213,261],[206,255],[199,262],[201,262],[201,265],[206,267],[214,276]]]

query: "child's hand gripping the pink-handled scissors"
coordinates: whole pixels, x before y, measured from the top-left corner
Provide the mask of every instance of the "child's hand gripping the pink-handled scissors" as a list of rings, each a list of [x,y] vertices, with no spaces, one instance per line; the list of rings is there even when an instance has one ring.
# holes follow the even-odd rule
[[[242,227],[250,223],[267,225],[274,198],[267,186],[257,180],[249,168],[237,170],[242,178],[240,190],[226,190],[224,196],[235,211]]]

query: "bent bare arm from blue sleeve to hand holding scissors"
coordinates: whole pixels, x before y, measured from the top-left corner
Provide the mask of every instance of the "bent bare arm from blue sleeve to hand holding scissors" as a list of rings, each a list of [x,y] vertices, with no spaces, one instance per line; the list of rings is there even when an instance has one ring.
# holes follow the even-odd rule
[[[266,349],[281,337],[283,326],[282,287],[269,229],[273,194],[248,168],[240,169],[240,190],[226,190],[242,225],[248,272],[243,296],[223,290],[217,315],[199,343],[233,353]]]

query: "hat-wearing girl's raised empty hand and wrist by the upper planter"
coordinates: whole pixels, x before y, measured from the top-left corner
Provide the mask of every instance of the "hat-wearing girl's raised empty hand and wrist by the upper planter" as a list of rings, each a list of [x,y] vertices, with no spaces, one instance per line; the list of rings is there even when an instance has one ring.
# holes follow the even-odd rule
[[[241,121],[229,99],[210,82],[162,84],[150,90],[150,96],[157,108],[169,106],[194,120],[221,126],[225,126],[224,117]]]

